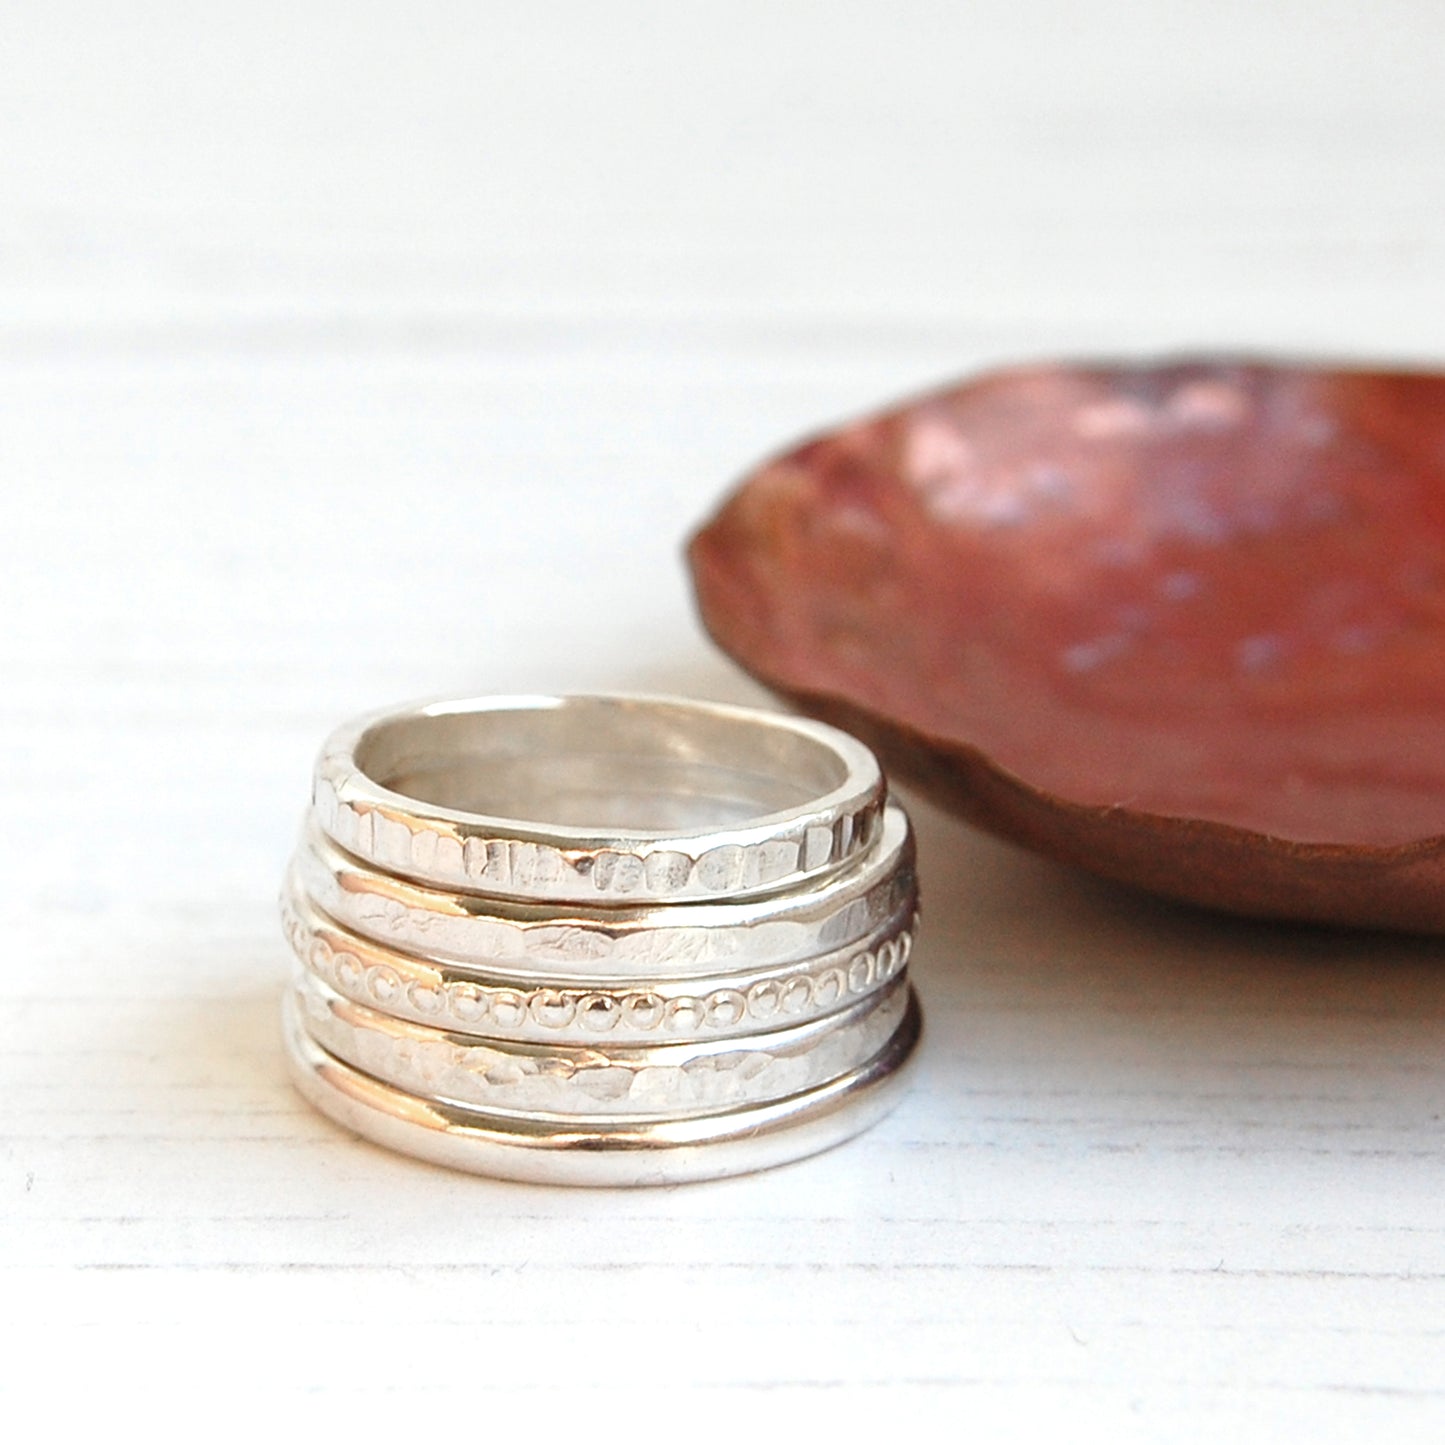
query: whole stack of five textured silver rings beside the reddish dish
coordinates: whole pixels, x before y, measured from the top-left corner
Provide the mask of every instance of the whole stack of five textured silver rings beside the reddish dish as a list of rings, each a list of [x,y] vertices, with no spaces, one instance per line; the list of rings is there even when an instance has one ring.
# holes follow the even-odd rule
[[[435,702],[327,741],[282,913],[302,1092],[379,1143],[670,1183],[877,1118],[919,1038],[907,818],[821,722]]]

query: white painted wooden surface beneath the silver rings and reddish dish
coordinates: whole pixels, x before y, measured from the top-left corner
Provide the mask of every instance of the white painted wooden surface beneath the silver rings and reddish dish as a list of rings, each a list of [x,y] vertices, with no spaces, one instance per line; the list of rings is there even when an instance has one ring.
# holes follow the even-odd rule
[[[754,696],[679,542],[801,431],[1014,357],[1438,358],[1445,10],[48,0],[0,58],[10,1428],[1445,1433],[1438,945],[919,805],[907,1103],[618,1195],[308,1113],[273,920],[358,708]]]

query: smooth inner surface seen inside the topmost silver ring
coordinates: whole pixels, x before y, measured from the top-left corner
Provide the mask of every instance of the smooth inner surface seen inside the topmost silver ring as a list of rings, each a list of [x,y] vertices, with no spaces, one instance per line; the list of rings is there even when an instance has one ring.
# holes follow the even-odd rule
[[[741,827],[848,776],[838,753],[792,728],[620,699],[380,722],[355,762],[432,806],[597,832]]]

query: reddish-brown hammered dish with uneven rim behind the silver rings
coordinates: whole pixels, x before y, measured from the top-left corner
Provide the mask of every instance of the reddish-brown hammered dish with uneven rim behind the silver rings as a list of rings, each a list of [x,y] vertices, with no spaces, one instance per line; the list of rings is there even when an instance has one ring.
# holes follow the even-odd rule
[[[749,672],[1006,838],[1445,931],[1445,374],[1001,371],[767,462],[689,558]]]

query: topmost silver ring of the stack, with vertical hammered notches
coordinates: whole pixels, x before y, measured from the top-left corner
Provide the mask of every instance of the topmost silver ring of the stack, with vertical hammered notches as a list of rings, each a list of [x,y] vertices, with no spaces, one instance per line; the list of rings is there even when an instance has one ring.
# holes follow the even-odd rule
[[[321,827],[389,873],[553,903],[746,897],[866,848],[883,775],[822,722],[714,702],[503,696],[340,728]]]

